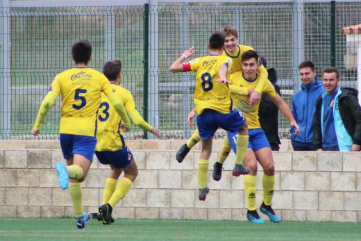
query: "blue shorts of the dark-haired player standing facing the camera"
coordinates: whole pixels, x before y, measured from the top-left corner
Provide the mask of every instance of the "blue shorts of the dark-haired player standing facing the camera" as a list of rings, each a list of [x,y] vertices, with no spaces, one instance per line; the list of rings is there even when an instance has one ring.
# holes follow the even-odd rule
[[[237,150],[237,132],[230,133],[227,132],[228,140],[230,143],[230,147],[232,147],[233,151]],[[249,144],[248,148],[252,149],[253,151],[258,151],[259,149],[269,147],[269,142],[267,140],[265,131],[261,128],[249,129]]]

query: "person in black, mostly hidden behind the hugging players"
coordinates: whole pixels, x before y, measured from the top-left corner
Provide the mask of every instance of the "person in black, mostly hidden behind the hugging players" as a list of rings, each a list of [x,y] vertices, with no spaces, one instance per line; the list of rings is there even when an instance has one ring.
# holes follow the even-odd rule
[[[267,67],[267,62],[265,58],[260,58],[262,64]],[[270,68],[267,69],[268,79],[271,81],[272,85],[277,92],[280,94],[280,87],[276,84],[277,75],[276,69]],[[258,110],[258,115],[260,117],[260,125],[263,131],[265,131],[267,140],[271,145],[272,151],[280,150],[280,138],[278,137],[278,107],[274,102],[267,96],[267,94],[262,94],[260,101],[260,109]]]

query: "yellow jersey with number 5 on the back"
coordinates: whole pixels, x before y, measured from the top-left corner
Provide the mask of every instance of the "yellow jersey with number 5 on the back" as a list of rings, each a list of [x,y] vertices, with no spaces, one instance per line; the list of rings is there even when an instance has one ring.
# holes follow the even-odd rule
[[[101,92],[112,94],[106,76],[90,67],[74,67],[58,74],[49,91],[62,97],[59,133],[95,135]]]

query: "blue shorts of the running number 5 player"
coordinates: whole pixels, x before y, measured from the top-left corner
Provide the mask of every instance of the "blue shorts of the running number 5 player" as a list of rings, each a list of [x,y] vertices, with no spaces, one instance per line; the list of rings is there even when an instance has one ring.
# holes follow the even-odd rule
[[[62,156],[65,159],[72,158],[73,155],[79,154],[85,156],[92,162],[96,145],[96,138],[87,135],[72,135],[60,133],[60,147]]]

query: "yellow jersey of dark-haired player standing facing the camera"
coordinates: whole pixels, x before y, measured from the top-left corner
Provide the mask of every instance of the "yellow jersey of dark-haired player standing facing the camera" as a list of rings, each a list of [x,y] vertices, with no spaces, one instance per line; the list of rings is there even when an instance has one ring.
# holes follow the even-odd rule
[[[246,89],[255,88],[259,81],[259,75],[254,80],[246,80],[243,76],[243,72],[235,72],[230,75],[230,82],[233,85],[237,85]],[[260,94],[265,93],[269,95],[269,97],[276,96],[276,90],[274,89],[274,85],[270,81],[266,81],[265,85],[262,88]],[[244,117],[246,117],[246,121],[249,125],[249,129],[260,128],[260,122],[258,120],[258,109],[260,108],[260,102],[256,106],[249,106],[249,96],[242,94],[233,94],[233,108],[237,110],[241,110]]]

